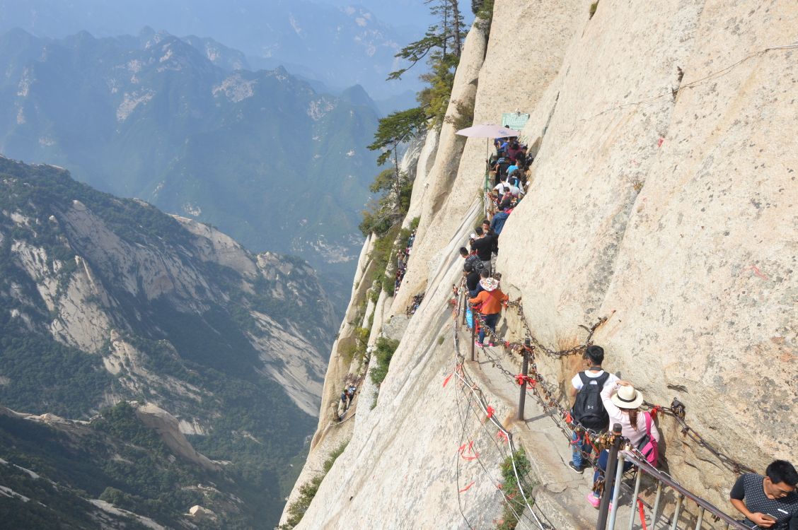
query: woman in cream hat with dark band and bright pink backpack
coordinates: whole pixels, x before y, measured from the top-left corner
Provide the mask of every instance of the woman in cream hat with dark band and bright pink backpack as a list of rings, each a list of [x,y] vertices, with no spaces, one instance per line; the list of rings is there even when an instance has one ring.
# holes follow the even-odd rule
[[[630,383],[626,381],[615,381],[613,384],[604,385],[604,390],[601,393],[602,402],[607,414],[610,416],[610,426],[615,423],[621,424],[621,434],[624,438],[629,440],[630,445],[638,447],[643,438],[648,433],[646,430],[646,416],[650,418],[650,413],[642,412],[639,407],[643,402],[643,395],[635,390]],[[640,414],[642,412],[642,414]],[[654,442],[659,442],[659,431],[654,422],[651,422],[651,438]],[[606,470],[606,461],[610,453],[603,450],[599,454],[599,461],[597,462],[596,471],[593,474],[593,483],[599,480]],[[623,470],[632,467],[631,462],[623,462]],[[604,479],[604,492],[609,491],[610,501],[612,501],[612,486],[615,477],[605,477]],[[597,497],[595,493],[587,494],[587,501],[590,502],[595,508],[599,508],[601,497]]]

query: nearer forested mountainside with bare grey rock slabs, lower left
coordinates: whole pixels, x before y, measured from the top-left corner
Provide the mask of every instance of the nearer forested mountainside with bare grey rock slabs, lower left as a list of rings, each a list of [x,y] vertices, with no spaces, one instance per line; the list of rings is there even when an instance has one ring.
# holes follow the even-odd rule
[[[314,428],[332,323],[305,261],[0,158],[0,404],[93,418],[3,413],[0,473],[44,477],[12,489],[48,509],[44,490],[105,492],[160,524],[215,503],[268,528]]]

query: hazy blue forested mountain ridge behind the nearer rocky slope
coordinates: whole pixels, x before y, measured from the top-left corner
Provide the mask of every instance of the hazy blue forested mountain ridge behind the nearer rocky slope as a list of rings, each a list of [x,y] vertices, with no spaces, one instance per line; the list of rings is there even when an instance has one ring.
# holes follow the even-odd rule
[[[145,31],[0,37],[0,152],[350,277],[375,155],[362,88],[317,93],[235,50]]]

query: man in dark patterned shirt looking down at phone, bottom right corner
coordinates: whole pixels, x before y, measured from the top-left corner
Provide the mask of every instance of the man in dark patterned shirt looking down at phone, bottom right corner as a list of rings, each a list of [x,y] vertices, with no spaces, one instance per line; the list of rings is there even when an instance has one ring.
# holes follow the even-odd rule
[[[734,508],[745,516],[741,523],[750,528],[798,530],[796,469],[788,461],[776,460],[764,475],[741,475],[729,493]]]

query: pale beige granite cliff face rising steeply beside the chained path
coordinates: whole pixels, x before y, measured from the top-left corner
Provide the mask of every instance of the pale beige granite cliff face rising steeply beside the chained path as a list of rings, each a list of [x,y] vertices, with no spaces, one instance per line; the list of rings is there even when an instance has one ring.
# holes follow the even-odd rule
[[[533,183],[502,233],[503,288],[554,349],[584,340],[580,324],[609,317],[593,337],[606,366],[650,402],[678,397],[689,425],[719,450],[759,470],[794,460],[785,433],[796,429],[798,403],[798,51],[784,45],[798,12],[789,2],[602,0],[591,18],[590,3],[497,0],[487,47],[472,29],[458,69],[452,97],[474,98],[476,123],[531,114],[523,139],[537,153]],[[500,516],[506,453],[468,385],[446,379],[468,347],[468,338],[452,344],[447,302],[460,276],[456,249],[483,217],[483,163],[484,139],[464,143],[444,124],[429,186],[413,190],[424,194],[421,225],[383,324],[417,292],[425,301],[376,408],[361,418],[358,407],[349,446],[300,528],[487,528]],[[522,337],[518,318],[508,315],[500,333]],[[512,421],[517,387],[492,364],[517,371],[516,360],[485,355],[464,371],[527,450],[535,510],[554,528],[589,528],[587,478],[567,471],[567,442],[542,410]],[[579,368],[579,359],[538,356],[563,402]],[[735,473],[671,419],[660,429],[669,473],[730,511]],[[468,440],[479,465],[457,456]]]

